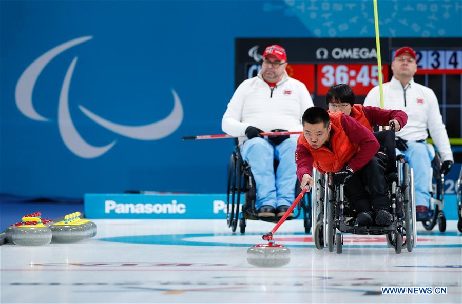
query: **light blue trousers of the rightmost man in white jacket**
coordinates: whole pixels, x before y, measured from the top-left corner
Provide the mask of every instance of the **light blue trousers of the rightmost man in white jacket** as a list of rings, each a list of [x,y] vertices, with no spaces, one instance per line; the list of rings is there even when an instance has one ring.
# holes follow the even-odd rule
[[[415,205],[430,207],[430,181],[433,156],[427,148],[425,141],[408,141],[408,149],[396,154],[403,154],[409,167],[414,169]]]

